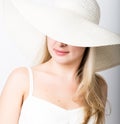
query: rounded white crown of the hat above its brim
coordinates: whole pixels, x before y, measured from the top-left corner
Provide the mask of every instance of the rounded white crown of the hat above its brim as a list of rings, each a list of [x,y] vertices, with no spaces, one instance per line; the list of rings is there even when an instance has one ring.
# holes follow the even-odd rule
[[[100,8],[96,0],[56,0],[54,5],[80,14],[96,24],[99,23]]]

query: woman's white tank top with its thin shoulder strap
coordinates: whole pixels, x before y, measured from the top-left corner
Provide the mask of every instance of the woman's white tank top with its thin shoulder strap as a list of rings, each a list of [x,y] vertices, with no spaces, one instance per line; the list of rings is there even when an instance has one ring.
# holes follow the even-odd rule
[[[30,89],[29,95],[23,102],[18,124],[82,124],[84,108],[66,110],[53,103],[37,98],[33,93],[33,73],[28,67]],[[91,117],[88,124],[94,124]]]

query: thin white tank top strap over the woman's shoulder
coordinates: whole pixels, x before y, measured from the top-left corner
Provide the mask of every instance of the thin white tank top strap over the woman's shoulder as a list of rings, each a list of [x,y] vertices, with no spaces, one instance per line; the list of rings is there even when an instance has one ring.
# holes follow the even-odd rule
[[[33,72],[30,67],[27,67],[29,73],[29,96],[33,93]]]

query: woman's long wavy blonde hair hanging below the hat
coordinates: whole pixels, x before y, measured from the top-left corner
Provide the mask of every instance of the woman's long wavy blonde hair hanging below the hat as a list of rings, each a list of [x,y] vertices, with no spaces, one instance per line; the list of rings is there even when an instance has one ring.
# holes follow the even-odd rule
[[[82,100],[86,103],[83,124],[87,124],[91,116],[95,116],[94,124],[104,124],[105,121],[105,103],[100,89],[100,85],[105,83],[105,80],[95,73],[94,53],[94,48],[86,48],[77,72],[77,76],[81,78],[81,82],[75,96],[78,101],[83,98]],[[47,48],[46,38],[39,64],[47,62],[50,58],[51,55]]]

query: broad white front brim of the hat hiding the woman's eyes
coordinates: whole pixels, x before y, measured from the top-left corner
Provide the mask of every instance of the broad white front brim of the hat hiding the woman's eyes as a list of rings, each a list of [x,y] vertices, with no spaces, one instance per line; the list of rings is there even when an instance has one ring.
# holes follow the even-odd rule
[[[14,1],[15,7],[36,29],[73,46],[120,44],[120,37],[67,9]]]

